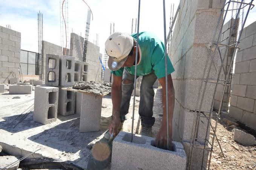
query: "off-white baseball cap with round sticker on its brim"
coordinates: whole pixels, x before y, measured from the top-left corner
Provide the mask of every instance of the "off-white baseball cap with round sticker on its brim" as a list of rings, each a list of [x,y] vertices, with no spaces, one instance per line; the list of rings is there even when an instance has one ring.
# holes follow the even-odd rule
[[[105,42],[105,50],[109,56],[110,70],[118,70],[126,62],[133,47],[133,38],[128,33],[114,32]]]

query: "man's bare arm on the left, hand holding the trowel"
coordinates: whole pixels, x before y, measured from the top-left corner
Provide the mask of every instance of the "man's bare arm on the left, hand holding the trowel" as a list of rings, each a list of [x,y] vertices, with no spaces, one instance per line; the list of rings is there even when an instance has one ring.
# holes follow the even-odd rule
[[[121,124],[120,119],[120,107],[121,107],[121,98],[122,98],[122,76],[115,76],[113,74],[113,83],[111,87],[111,97],[112,97],[112,122],[109,125],[109,133],[113,135],[117,135],[117,129]]]

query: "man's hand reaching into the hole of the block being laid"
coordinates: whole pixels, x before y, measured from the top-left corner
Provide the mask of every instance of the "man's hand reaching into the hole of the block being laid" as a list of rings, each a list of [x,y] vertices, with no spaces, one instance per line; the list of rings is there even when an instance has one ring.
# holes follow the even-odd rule
[[[158,147],[158,148],[161,148],[161,149],[167,149],[167,129],[166,129],[166,125],[162,125],[161,128],[159,129],[157,137],[154,141],[154,146]],[[172,149],[172,129],[169,129],[169,148],[168,148],[168,150],[173,150]]]

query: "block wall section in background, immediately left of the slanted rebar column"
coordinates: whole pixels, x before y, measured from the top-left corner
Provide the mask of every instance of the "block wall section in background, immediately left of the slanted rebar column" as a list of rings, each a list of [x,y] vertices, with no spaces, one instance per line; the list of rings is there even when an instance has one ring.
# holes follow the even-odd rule
[[[70,34],[70,55],[75,57],[75,60],[83,61],[83,44],[84,38],[75,34]]]

